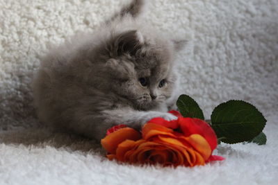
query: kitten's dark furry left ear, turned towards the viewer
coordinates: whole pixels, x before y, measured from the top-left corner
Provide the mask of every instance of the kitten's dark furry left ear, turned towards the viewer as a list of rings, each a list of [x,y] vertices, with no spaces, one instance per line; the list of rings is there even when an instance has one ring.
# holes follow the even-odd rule
[[[115,37],[113,42],[113,53],[117,56],[124,53],[136,55],[136,52],[142,48],[144,38],[137,30],[129,30]]]

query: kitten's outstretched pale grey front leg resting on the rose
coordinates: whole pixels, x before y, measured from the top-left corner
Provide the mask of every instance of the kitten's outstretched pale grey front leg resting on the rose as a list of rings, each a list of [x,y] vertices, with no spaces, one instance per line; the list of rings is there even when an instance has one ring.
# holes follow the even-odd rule
[[[156,112],[156,111],[149,111],[149,112],[142,112],[136,111],[133,109],[113,109],[113,110],[105,110],[101,112],[98,118],[98,123],[96,120],[91,120],[90,123],[93,125],[91,127],[91,131],[86,135],[93,137],[97,140],[104,138],[106,134],[106,130],[110,127],[113,127],[117,124],[124,124],[128,125],[129,127],[133,127],[137,130],[140,130],[141,126],[147,123],[147,121],[151,120],[152,118],[162,117],[166,120],[170,121],[173,119],[177,119],[176,116],[166,113],[166,112]],[[102,119],[102,120],[101,120]],[[89,127],[85,127],[86,131],[90,129]]]

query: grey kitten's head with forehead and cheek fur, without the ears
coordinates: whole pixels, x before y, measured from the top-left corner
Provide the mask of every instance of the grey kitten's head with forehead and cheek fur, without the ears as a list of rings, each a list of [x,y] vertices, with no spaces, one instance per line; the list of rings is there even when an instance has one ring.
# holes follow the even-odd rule
[[[163,45],[139,46],[138,35],[132,34],[128,35],[129,43],[117,48],[117,56],[106,63],[111,73],[111,87],[118,95],[131,100],[136,109],[152,109],[172,95],[175,81],[172,51]],[[131,37],[136,39],[134,43],[130,43]],[[133,51],[135,47],[138,48]],[[128,52],[122,53],[126,49]]]

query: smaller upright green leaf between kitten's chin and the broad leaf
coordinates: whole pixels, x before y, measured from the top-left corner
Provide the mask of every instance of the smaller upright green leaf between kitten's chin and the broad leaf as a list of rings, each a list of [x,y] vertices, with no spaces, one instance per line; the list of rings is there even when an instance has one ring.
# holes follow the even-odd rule
[[[200,118],[204,120],[202,109],[200,109],[195,100],[188,95],[182,94],[179,96],[177,100],[177,107],[179,108],[181,115],[184,117]]]

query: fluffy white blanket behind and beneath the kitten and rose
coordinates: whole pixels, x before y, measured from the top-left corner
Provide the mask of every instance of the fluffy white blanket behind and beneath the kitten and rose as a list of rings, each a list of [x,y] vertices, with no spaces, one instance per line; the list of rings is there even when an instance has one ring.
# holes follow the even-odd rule
[[[126,0],[127,1],[127,0]],[[31,79],[39,56],[91,31],[126,1],[0,0],[0,184],[277,184],[278,1],[154,0],[146,21],[189,40],[183,89],[210,113],[243,99],[268,119],[268,143],[222,144],[226,157],[195,168],[108,161],[97,143],[38,127]]]

